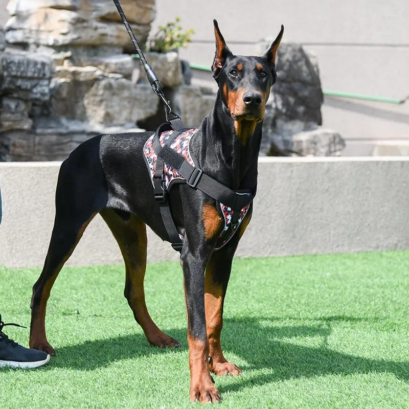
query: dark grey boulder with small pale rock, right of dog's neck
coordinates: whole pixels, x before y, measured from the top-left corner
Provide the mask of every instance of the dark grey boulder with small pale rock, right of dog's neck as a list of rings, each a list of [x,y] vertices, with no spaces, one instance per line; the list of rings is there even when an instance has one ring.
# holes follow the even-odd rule
[[[267,44],[261,43],[260,49],[266,49]],[[321,128],[323,93],[315,56],[299,44],[281,44],[276,68],[277,82],[263,122],[261,154],[293,150],[301,155],[339,155],[345,141],[339,133]],[[313,148],[317,138],[320,149]]]

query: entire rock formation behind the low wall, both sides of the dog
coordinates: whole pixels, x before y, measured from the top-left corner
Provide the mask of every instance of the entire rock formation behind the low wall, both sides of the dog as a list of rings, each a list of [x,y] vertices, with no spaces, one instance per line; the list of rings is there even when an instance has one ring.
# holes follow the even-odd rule
[[[143,44],[154,0],[121,4]],[[0,31],[0,161],[63,160],[93,135],[164,122],[162,103],[129,54],[133,45],[111,0],[11,0],[8,10],[5,36]],[[211,89],[190,84],[189,64],[176,52],[146,58],[175,112],[187,126],[199,126],[214,103]],[[339,154],[345,145],[340,135],[320,129],[315,59],[301,46],[282,44],[277,71],[261,154],[277,154],[277,147]]]

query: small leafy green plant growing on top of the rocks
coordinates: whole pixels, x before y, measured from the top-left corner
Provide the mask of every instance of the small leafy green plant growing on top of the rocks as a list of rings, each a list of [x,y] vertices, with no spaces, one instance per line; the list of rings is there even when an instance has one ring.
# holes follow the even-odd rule
[[[166,26],[159,26],[158,31],[149,42],[149,50],[158,53],[166,53],[171,50],[187,47],[192,41],[193,29],[182,32],[180,17],[175,21],[169,21]]]

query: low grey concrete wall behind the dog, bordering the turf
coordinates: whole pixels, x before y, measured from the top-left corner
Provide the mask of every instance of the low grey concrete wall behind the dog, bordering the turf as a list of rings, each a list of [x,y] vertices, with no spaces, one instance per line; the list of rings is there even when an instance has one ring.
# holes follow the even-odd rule
[[[0,163],[0,265],[42,266],[54,219],[59,163]],[[238,256],[409,248],[409,157],[260,159],[254,215]],[[177,260],[149,232],[148,259]],[[155,251],[153,251],[153,245]],[[100,216],[67,265],[122,263]]]

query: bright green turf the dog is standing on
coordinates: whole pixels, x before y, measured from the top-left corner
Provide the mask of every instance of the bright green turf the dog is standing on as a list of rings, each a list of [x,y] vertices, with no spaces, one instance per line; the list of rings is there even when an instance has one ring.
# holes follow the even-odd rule
[[[38,275],[0,267],[6,322],[29,325]],[[0,370],[0,407],[194,405],[181,278],[176,263],[148,266],[151,315],[182,344],[160,350],[133,321],[122,266],[64,268],[47,315],[57,356]],[[222,344],[244,372],[215,378],[220,407],[408,408],[408,300],[409,252],[235,260]],[[27,345],[28,329],[6,329]]]

